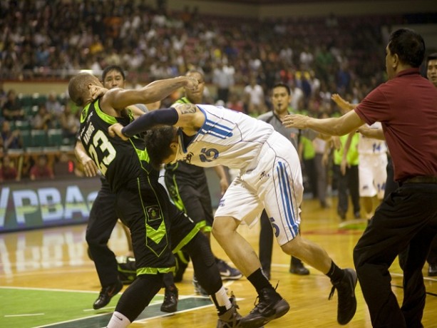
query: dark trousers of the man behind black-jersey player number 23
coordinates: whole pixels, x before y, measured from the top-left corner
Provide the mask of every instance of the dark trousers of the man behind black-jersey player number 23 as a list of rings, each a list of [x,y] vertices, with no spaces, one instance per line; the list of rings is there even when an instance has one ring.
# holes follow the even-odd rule
[[[110,192],[107,183],[102,183],[91,207],[86,227],[86,242],[102,287],[113,285],[118,280],[117,260],[108,247],[108,240],[117,220],[115,195]]]

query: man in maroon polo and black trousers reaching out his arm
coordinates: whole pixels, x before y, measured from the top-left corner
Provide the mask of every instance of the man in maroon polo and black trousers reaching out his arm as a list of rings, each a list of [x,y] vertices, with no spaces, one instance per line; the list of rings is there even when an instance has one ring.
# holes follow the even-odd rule
[[[437,89],[419,67],[425,43],[410,29],[394,31],[386,47],[389,81],[354,111],[318,120],[290,115],[284,125],[344,135],[360,125],[382,123],[400,187],[375,212],[354,248],[354,264],[374,327],[423,327],[426,291],[422,267],[437,233]],[[403,304],[391,291],[389,267],[409,245]]]

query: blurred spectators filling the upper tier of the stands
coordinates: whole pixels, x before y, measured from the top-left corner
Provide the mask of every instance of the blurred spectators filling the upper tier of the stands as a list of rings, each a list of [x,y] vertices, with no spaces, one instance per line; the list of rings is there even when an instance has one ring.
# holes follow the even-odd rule
[[[248,83],[255,74],[267,88],[278,78],[293,80],[296,71],[314,71],[336,88],[348,88],[348,74],[380,78],[384,53],[373,49],[384,37],[381,27],[408,19],[331,14],[259,21],[189,8],[170,12],[129,0],[1,1],[0,6],[2,78],[67,77],[69,71],[117,64],[148,81],[197,66],[210,82],[223,64],[235,83]]]

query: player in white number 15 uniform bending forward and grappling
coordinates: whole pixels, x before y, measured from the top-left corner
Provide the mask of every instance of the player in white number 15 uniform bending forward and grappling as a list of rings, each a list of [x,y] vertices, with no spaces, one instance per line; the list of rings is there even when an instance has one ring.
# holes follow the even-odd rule
[[[155,125],[174,125],[155,127]],[[115,124],[111,135],[123,140],[148,130],[150,163],[183,160],[202,167],[226,165],[240,170],[215,212],[212,234],[232,262],[252,283],[259,302],[241,321],[262,327],[286,314],[289,304],[262,274],[255,250],[238,232],[242,222],[254,225],[265,208],[272,217],[282,250],[323,272],[338,292],[337,321],[347,324],[356,311],[356,273],[340,269],[319,245],[299,235],[302,171],[292,143],[272,125],[240,112],[209,105],[181,104],[146,113],[129,125]],[[116,138],[116,137],[115,137]]]

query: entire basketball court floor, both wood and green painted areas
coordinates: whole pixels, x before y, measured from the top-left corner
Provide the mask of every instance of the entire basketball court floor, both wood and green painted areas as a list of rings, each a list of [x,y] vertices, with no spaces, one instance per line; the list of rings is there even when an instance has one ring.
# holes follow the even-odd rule
[[[335,200],[333,200],[335,203]],[[349,215],[351,216],[351,215]],[[349,219],[339,222],[335,207],[322,209],[316,200],[304,200],[302,205],[302,235],[322,245],[341,267],[354,267],[352,250],[366,225],[365,221]],[[86,225],[55,227],[26,232],[0,234],[0,327],[106,327],[119,295],[107,307],[93,310],[92,304],[100,285],[93,262],[88,259],[85,241]],[[259,226],[240,232],[258,250]],[[128,251],[125,236],[116,227],[110,239],[116,255]],[[212,240],[212,250],[218,257],[228,258]],[[272,285],[287,299],[291,309],[284,317],[268,327],[339,327],[336,322],[336,294],[328,300],[329,279],[309,267],[310,275],[289,273],[289,256],[274,244]],[[427,277],[423,325],[437,327],[437,279]],[[396,260],[391,269],[392,288],[402,301],[402,271]],[[215,307],[206,297],[195,294],[192,287],[192,267],[178,283],[180,301],[178,312],[160,312],[163,289],[130,327],[215,327]],[[245,315],[254,307],[255,289],[246,278],[225,282],[229,292],[237,297],[240,313]],[[124,290],[124,289],[123,289]],[[356,287],[358,307],[354,319],[345,327],[371,327],[366,303],[359,285]]]

